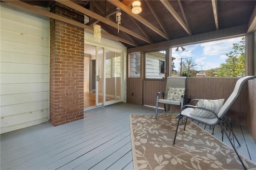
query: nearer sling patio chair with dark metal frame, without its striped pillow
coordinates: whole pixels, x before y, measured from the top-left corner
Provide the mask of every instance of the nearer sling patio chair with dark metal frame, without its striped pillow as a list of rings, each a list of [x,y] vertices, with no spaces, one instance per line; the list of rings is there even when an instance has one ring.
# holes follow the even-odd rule
[[[207,109],[207,108],[204,108],[204,107],[197,107],[197,106],[192,106],[192,105],[184,105],[181,110],[180,110],[180,113],[178,115],[178,122],[180,121],[180,119],[182,119],[182,117],[186,117],[186,123],[187,123],[187,119],[192,119],[192,120],[195,120],[195,121],[198,121],[198,122],[201,122],[201,123],[204,123],[206,125],[210,125],[210,126],[214,126],[214,125],[217,125],[217,124],[220,124],[221,128],[222,128],[222,131],[226,134],[226,136],[228,137],[228,140],[230,141],[234,151],[236,152],[236,155],[238,156],[240,162],[242,163],[242,166],[244,167],[244,169],[246,169],[246,167],[244,166],[244,163],[242,162],[240,156],[238,155],[238,152],[236,151],[234,145],[232,144],[232,141],[230,140],[223,124],[221,123],[221,120],[224,119],[226,122],[227,119],[225,117],[226,113],[228,112],[228,110],[230,109],[230,107],[234,104],[234,102],[237,100],[238,96],[240,95],[240,92],[242,90],[242,87],[243,87],[243,84],[247,81],[247,80],[250,80],[250,79],[253,79],[253,78],[256,78],[256,76],[245,76],[245,77],[242,77],[240,78],[237,82],[236,82],[236,85],[235,85],[235,88],[234,88],[234,91],[232,92],[232,94],[229,96],[229,98],[226,100],[226,102],[223,104],[222,107],[220,107],[219,111],[216,112],[214,110],[210,110],[210,109]],[[195,100],[198,100],[198,99],[195,99]],[[191,100],[192,102],[193,100]],[[190,102],[190,103],[191,103]],[[211,114],[212,115],[215,115],[215,118],[212,118],[212,119],[209,119],[209,118],[205,118],[205,117],[198,117],[198,116],[195,116],[195,115],[191,115],[192,111],[194,110],[194,108],[197,108],[197,109],[202,109],[202,110],[206,110],[208,111],[208,114]],[[185,131],[185,128],[186,128],[186,123],[184,125],[184,131]],[[177,135],[177,132],[178,132],[178,127],[179,127],[179,124],[180,123],[177,123],[177,128],[176,128],[176,133],[175,133],[175,136],[174,136],[174,141],[173,141],[173,144],[175,144],[175,140],[176,140],[176,135]],[[230,130],[232,131],[232,128],[230,127],[230,124],[227,123]],[[212,131],[214,131],[214,127],[212,128]],[[222,133],[223,133],[222,132]],[[212,133],[213,134],[213,133]],[[232,131],[232,134],[234,135],[234,132]],[[240,146],[240,143],[238,142],[238,139],[236,138],[236,136],[234,135],[238,145]]]

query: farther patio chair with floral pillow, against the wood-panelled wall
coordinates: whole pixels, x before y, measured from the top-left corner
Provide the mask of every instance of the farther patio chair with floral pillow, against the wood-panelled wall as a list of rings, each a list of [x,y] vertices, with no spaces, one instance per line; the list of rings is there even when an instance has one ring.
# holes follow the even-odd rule
[[[183,106],[186,104],[187,98],[185,92],[186,77],[167,77],[166,78],[166,89],[164,92],[158,92],[156,96],[156,113],[155,118],[157,119],[158,104],[164,104],[164,111],[166,111],[166,104]],[[160,99],[162,94],[162,99]],[[182,120],[181,120],[182,124]]]

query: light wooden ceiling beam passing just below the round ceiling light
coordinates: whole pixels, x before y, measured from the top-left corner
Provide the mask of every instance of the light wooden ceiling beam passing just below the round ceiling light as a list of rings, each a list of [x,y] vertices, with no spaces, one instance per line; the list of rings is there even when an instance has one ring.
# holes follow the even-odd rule
[[[167,40],[169,39],[168,35],[163,33],[161,30],[159,30],[157,27],[152,25],[150,22],[148,22],[147,20],[145,20],[144,18],[142,18],[138,14],[133,14],[132,10],[130,8],[128,8],[127,6],[125,6],[124,4],[119,2],[118,0],[108,0],[108,1],[111,2],[113,5],[117,6],[118,8],[120,8],[121,10],[123,10],[124,12],[126,12],[126,14],[132,16],[136,20],[140,21],[141,23],[143,23],[144,25],[146,25],[147,27],[149,27],[150,29],[152,29],[153,31],[155,31],[156,33],[161,35],[165,39],[167,39]]]

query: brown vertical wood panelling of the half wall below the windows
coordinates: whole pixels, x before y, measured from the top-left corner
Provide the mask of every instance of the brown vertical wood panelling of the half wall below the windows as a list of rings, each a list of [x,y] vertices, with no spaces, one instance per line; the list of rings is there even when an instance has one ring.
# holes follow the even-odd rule
[[[222,99],[225,101],[233,92],[239,77],[187,77],[186,94],[188,99]],[[247,88],[246,82],[242,92],[235,104],[228,111],[228,117],[232,122],[246,124],[247,122]],[[145,104],[156,106],[157,92],[164,92],[166,81],[143,80],[141,78],[128,78],[127,80],[127,102],[133,104]],[[163,105],[160,105],[160,107]],[[180,111],[179,106],[167,107],[172,111]]]

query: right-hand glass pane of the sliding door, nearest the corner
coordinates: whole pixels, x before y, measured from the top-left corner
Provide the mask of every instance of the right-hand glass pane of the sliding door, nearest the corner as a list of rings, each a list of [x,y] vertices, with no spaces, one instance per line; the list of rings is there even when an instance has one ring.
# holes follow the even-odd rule
[[[106,102],[121,97],[121,53],[106,50]]]

